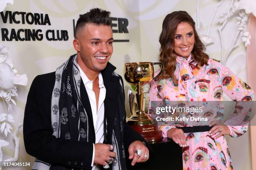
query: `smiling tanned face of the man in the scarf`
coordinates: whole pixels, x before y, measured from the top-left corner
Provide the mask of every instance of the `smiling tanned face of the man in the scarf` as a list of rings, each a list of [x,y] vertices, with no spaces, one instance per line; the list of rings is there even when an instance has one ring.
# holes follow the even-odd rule
[[[86,71],[100,72],[104,70],[113,53],[111,27],[86,24],[84,29],[78,32],[77,42],[78,48],[75,47],[75,49],[79,66]],[[74,46],[76,46],[75,43]]]

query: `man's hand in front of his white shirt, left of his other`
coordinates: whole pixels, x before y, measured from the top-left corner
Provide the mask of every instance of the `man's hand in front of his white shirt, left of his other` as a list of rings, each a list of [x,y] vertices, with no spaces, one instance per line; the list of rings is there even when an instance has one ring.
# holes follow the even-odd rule
[[[94,163],[105,166],[108,160],[115,158],[116,153],[111,152],[111,145],[104,143],[94,144]]]

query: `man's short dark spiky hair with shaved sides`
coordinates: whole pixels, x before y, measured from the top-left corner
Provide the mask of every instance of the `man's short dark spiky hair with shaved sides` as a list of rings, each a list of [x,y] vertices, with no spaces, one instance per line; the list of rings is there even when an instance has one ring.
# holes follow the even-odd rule
[[[84,29],[87,23],[95,25],[108,25],[110,26],[110,12],[102,10],[100,8],[92,8],[89,12],[84,15],[80,15],[77,20],[77,25],[75,28],[75,37],[77,38],[77,33]]]

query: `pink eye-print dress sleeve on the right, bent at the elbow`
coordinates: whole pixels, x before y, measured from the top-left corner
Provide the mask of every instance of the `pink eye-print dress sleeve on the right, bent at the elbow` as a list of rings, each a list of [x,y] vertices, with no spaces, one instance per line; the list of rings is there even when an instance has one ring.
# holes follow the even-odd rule
[[[230,114],[230,119],[226,120],[225,124],[231,137],[239,137],[248,129],[248,113],[251,112],[250,101],[254,98],[254,92],[246,82],[224,65],[221,65],[221,79],[223,92],[236,101],[235,111]]]

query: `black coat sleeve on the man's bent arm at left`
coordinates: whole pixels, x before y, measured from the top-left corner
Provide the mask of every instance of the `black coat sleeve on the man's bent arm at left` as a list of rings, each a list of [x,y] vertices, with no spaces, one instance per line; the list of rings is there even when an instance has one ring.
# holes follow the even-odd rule
[[[28,92],[23,120],[26,152],[52,165],[91,169],[93,144],[56,138],[51,127],[52,82],[37,76]]]

